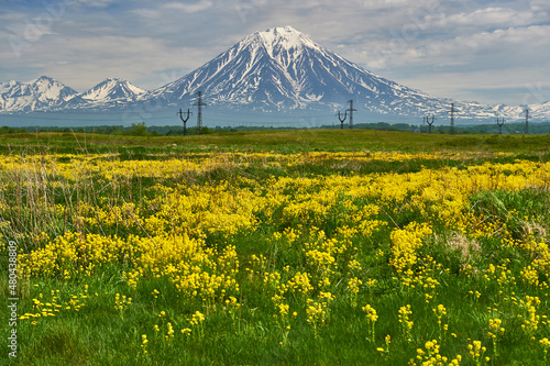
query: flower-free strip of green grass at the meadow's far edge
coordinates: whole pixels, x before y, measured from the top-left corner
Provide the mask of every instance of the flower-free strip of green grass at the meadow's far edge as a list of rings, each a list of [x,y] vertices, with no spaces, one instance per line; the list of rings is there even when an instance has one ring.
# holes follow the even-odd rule
[[[128,151],[142,152],[207,152],[250,151],[301,153],[310,151],[480,151],[515,152],[548,155],[550,135],[435,135],[410,132],[371,130],[289,130],[219,132],[193,136],[119,136],[84,133],[16,133],[0,135],[2,152],[24,152],[29,148],[65,152]],[[176,144],[176,146],[173,146]]]

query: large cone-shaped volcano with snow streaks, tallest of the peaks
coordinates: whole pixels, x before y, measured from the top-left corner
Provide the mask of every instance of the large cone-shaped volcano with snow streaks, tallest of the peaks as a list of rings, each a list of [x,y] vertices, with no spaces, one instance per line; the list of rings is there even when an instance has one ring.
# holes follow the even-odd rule
[[[442,114],[449,99],[436,98],[377,76],[290,26],[256,32],[187,76],[154,90],[156,104],[177,104],[201,90],[212,104],[234,109],[334,110],[355,107],[382,115]],[[490,118],[494,108],[455,101],[457,115]]]

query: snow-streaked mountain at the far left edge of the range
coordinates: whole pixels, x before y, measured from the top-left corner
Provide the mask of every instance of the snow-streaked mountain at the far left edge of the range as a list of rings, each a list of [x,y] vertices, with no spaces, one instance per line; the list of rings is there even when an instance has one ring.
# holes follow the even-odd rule
[[[47,76],[29,82],[0,82],[0,112],[58,109],[77,95],[75,89]]]

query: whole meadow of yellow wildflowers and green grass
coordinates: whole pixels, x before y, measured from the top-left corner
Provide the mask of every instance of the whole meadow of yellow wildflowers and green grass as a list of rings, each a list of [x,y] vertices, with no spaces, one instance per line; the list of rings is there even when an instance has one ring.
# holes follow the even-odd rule
[[[0,140],[0,364],[550,365],[548,136]]]

